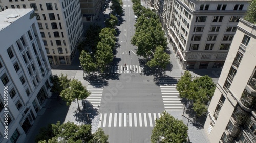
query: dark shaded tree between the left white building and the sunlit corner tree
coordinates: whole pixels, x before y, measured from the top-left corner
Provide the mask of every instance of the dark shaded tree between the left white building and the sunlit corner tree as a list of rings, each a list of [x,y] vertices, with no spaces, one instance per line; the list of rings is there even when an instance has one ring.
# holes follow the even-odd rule
[[[59,77],[57,75],[51,76],[50,81],[52,83],[50,91],[53,93],[60,93],[62,90],[69,87],[70,79],[68,79],[67,74],[64,76],[64,74],[61,73]]]

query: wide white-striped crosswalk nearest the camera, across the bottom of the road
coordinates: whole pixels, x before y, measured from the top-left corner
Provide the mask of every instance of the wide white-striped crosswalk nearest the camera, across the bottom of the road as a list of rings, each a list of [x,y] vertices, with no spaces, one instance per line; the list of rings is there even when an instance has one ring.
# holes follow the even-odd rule
[[[104,113],[100,114],[99,127],[154,127],[160,113]]]

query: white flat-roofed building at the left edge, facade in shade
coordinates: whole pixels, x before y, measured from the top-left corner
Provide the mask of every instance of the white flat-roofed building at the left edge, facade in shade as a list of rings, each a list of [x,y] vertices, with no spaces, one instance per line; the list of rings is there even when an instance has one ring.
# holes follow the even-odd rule
[[[0,12],[0,142],[24,142],[51,96],[52,73],[35,16],[33,9]]]

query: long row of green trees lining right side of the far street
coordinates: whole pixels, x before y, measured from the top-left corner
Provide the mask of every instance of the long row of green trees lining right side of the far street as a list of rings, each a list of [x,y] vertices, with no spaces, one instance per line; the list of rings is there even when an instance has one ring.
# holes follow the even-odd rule
[[[170,56],[165,52],[167,38],[164,37],[160,20],[153,11],[142,6],[139,0],[132,2],[133,11],[139,17],[135,24],[135,34],[131,39],[131,43],[138,47],[136,54],[149,60],[149,67],[165,69],[170,63]]]

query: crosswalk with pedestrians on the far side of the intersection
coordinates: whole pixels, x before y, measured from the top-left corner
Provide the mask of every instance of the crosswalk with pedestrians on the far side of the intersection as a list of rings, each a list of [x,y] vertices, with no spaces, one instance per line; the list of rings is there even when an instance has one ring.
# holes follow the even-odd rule
[[[121,66],[111,66],[110,67],[111,73],[141,73],[143,72],[143,67],[139,65],[121,65]]]

